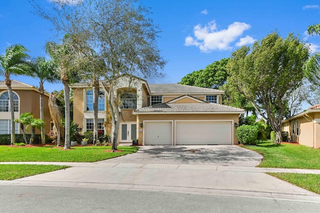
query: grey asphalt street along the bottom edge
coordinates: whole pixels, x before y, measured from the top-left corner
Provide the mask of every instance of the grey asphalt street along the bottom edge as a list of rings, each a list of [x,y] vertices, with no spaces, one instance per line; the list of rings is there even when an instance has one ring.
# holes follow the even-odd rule
[[[320,212],[320,203],[161,191],[0,185],[0,212]]]

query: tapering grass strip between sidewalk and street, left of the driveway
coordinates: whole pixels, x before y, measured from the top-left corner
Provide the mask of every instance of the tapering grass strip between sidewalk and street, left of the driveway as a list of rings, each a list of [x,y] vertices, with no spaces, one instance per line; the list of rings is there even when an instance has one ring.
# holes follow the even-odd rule
[[[31,164],[0,164],[0,179],[12,180],[21,177],[41,174],[68,168],[66,165],[31,165]]]

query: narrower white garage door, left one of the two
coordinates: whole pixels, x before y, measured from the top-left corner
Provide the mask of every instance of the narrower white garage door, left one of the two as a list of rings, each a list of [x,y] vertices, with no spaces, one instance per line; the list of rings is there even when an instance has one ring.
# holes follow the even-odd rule
[[[172,122],[145,121],[144,145],[172,145]]]

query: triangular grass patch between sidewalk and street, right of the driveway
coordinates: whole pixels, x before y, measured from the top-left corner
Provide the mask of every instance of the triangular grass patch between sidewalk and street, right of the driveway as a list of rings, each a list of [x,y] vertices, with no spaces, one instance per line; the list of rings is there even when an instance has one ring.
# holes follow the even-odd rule
[[[297,185],[306,190],[320,194],[320,174],[298,174],[298,173],[270,173],[279,179]]]

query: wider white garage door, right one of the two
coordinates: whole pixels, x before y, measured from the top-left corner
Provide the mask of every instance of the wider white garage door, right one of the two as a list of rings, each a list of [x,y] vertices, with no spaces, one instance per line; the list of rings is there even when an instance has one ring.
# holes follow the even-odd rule
[[[177,145],[232,144],[231,121],[176,121]]]

